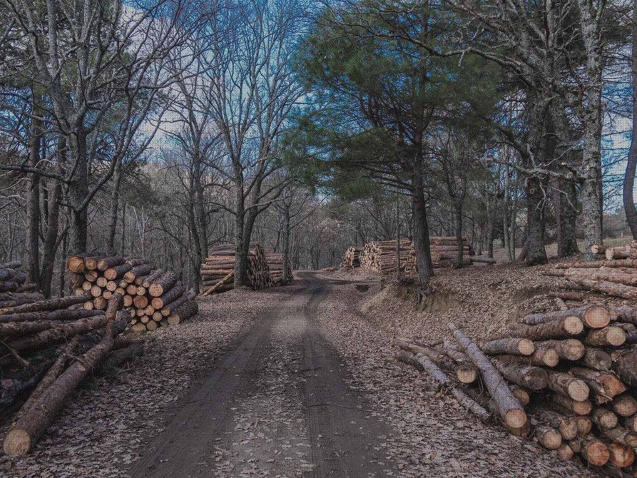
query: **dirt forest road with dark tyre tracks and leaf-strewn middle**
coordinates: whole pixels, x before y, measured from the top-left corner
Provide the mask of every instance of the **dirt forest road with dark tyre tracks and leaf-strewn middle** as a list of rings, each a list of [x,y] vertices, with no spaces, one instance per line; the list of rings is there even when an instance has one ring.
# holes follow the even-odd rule
[[[348,388],[350,370],[320,333],[320,307],[342,281],[297,275],[306,287],[259,315],[176,402],[132,477],[395,476],[378,446],[395,432]]]

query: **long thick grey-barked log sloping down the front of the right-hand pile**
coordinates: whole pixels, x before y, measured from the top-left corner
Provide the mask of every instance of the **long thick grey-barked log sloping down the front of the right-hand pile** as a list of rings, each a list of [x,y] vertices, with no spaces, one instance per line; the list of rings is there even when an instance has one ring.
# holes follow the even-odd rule
[[[473,365],[478,368],[482,375],[483,382],[489,389],[494,402],[497,404],[500,416],[503,421],[511,428],[521,428],[527,421],[526,413],[520,402],[517,401],[515,395],[506,385],[505,380],[497,372],[496,368],[490,363],[487,356],[478,348],[476,344],[464,335],[454,324],[449,324],[455,340],[462,347],[469,359],[473,361]]]

